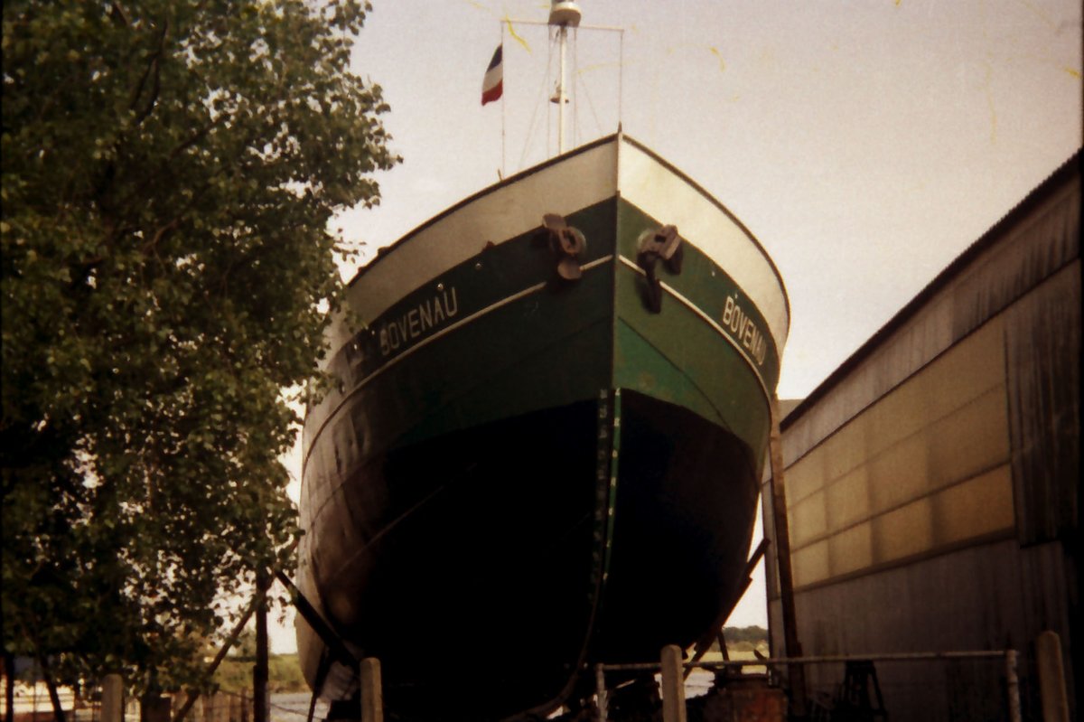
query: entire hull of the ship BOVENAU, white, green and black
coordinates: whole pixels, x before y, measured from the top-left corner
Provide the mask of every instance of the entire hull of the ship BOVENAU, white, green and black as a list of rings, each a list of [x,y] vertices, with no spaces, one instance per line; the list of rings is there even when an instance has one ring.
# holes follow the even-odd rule
[[[616,155],[622,143],[589,151]],[[576,155],[535,172],[560,181],[583,159]],[[420,645],[478,665],[527,655],[477,710],[498,719],[577,694],[589,661],[692,643],[744,581],[778,334],[749,289],[691,240],[680,271],[658,268],[653,310],[637,249],[645,232],[673,221],[649,216],[617,183],[564,209],[586,240],[575,281],[560,276],[560,254],[538,227],[456,235],[475,216],[544,195],[531,183],[542,180],[511,179],[401,242],[477,250],[405,284],[360,331],[340,323],[328,364],[339,388],[306,420],[300,585],[337,634],[385,661],[389,704],[417,719],[441,719],[440,705],[411,700],[439,700],[463,682],[434,674]],[[502,192],[508,206],[477,210]],[[402,263],[385,273],[390,281],[378,275],[408,253],[397,245],[356,281],[363,317],[366,285],[414,273]],[[502,644],[511,646],[493,650]],[[350,694],[318,679],[324,645],[304,623],[299,646],[311,684]]]

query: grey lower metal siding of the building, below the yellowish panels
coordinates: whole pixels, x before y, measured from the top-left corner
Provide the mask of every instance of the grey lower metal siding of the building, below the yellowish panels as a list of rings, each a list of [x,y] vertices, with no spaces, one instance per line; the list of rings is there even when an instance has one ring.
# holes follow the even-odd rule
[[[1074,578],[1061,543],[1021,551],[1015,539],[990,542],[798,592],[798,635],[806,655],[1016,648],[1025,656],[1019,669],[1024,719],[1037,720],[1037,680],[1027,654],[1040,632],[1061,637],[1074,694],[1068,648],[1079,623]],[[773,640],[782,640],[778,609],[778,599],[769,604]],[[989,662],[877,665],[890,720],[1007,720],[1003,673]],[[834,693],[842,678],[841,665],[806,668],[811,697]],[[994,704],[983,707],[983,700]]]

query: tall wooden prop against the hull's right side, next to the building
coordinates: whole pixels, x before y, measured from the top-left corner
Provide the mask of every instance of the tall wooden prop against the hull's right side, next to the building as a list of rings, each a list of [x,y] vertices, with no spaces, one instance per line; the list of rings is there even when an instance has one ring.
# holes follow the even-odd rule
[[[795,582],[790,569],[790,528],[787,525],[787,491],[783,479],[783,440],[779,433],[779,398],[772,395],[772,433],[769,437],[772,464],[772,518],[775,521],[775,557],[779,569],[779,597],[783,604],[783,639],[787,657],[801,657],[798,622],[795,614]],[[790,701],[796,717],[805,717],[805,668],[787,667]]]

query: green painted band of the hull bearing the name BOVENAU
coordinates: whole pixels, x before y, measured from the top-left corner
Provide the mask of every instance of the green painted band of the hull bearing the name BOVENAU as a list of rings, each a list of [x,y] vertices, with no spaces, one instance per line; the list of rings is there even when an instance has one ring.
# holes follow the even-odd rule
[[[660,223],[617,197],[567,220],[588,237],[581,280],[558,278],[531,231],[405,295],[336,354],[330,369],[346,392],[372,396],[383,410],[373,443],[421,441],[628,388],[763,449],[778,354],[766,349],[753,368],[721,331],[727,298],[743,295],[737,284],[686,246],[682,272],[662,275],[667,306],[653,313],[635,244]],[[310,416],[307,430],[327,415]]]

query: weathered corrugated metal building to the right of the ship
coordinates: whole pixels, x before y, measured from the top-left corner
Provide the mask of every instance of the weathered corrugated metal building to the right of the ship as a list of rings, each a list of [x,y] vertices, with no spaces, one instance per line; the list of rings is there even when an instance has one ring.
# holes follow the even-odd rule
[[[1038,719],[1033,642],[1053,630],[1076,709],[1080,163],[1077,153],[784,420],[804,655],[1014,647],[1024,719]],[[763,499],[772,540],[767,486]],[[782,654],[773,558],[767,579]],[[877,672],[893,720],[1006,718],[1002,665]],[[842,666],[806,675],[811,693],[831,694]]]

